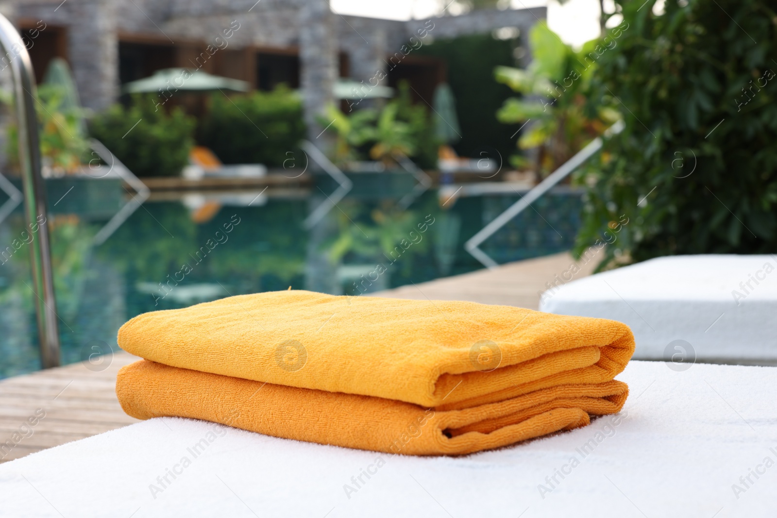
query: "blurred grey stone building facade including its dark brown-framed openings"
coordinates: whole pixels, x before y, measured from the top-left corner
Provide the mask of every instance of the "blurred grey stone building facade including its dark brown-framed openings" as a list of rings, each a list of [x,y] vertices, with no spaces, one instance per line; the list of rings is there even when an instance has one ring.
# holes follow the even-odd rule
[[[533,8],[395,21],[340,16],[326,0],[6,0],[0,12],[35,35],[33,66],[54,56],[71,64],[82,103],[94,110],[115,102],[121,82],[159,68],[194,65],[259,87],[264,75],[297,66],[308,123],[337,77],[387,75],[389,57],[405,56],[424,28],[433,38],[505,26],[525,34],[545,18],[545,8]]]

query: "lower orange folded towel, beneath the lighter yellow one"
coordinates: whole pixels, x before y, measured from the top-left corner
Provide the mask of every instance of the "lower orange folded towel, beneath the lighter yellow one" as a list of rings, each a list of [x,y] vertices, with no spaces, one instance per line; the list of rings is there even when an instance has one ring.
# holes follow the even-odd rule
[[[141,360],[117,395],[138,419],[205,419],[287,439],[393,454],[469,454],[585,426],[618,412],[620,381],[543,388],[502,402],[441,411],[373,396],[288,387]]]

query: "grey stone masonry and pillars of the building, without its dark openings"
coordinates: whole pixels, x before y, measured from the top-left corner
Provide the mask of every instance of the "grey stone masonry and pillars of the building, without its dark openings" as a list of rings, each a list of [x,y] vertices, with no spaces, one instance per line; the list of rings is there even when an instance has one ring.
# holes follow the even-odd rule
[[[11,0],[2,9],[16,19],[43,19],[68,28],[68,58],[82,102],[99,110],[118,95],[119,37],[176,45],[211,43],[233,20],[239,30],[231,50],[246,47],[298,48],[306,119],[328,102],[337,75],[337,52],[348,54],[350,77],[367,82],[385,72],[385,58],[409,43],[426,19],[408,22],[340,16],[326,0]],[[326,12],[325,12],[326,10]],[[483,10],[431,19],[435,39],[487,33],[516,26],[522,33],[545,8]],[[182,50],[183,51],[183,50]],[[251,61],[246,60],[246,66]],[[247,77],[250,77],[248,75]]]

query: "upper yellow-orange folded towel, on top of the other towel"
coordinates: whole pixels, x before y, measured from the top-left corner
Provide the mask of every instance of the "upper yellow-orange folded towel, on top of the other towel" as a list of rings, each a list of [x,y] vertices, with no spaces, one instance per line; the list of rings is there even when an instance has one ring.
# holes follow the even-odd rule
[[[629,328],[600,318],[304,290],[138,315],[118,342],[172,367],[437,410],[603,384],[634,352]]]

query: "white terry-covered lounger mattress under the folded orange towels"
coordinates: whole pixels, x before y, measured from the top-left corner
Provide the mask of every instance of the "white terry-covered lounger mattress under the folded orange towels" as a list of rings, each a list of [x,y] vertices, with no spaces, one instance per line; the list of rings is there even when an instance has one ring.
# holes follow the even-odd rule
[[[0,464],[0,516],[775,516],[777,367],[632,362],[618,379],[618,419],[467,457],[152,419]]]

